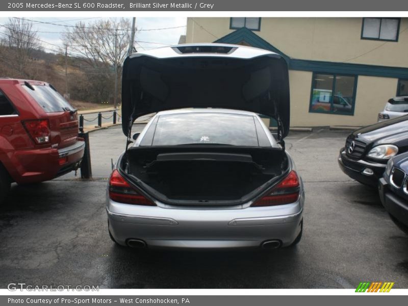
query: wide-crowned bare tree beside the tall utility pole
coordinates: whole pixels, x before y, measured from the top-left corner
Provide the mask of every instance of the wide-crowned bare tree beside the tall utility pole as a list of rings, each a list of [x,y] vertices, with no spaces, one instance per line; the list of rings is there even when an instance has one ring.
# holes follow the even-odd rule
[[[131,24],[128,19],[99,19],[87,24],[77,23],[67,30],[63,40],[71,52],[81,55],[93,79],[96,77],[105,81],[114,74],[114,82],[117,82],[127,56],[130,36]]]

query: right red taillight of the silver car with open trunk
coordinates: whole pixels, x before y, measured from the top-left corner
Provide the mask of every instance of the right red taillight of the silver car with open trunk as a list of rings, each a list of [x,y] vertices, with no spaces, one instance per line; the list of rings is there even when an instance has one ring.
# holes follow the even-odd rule
[[[295,202],[299,197],[299,178],[294,170],[266,195],[254,202],[252,207],[284,205]]]

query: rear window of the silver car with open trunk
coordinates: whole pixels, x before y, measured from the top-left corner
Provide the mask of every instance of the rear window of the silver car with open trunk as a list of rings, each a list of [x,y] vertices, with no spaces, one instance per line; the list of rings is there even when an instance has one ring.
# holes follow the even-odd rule
[[[223,113],[184,113],[161,115],[146,131],[140,145],[226,144],[260,146],[256,118]],[[149,136],[148,136],[149,135]],[[261,146],[270,146],[262,141]]]

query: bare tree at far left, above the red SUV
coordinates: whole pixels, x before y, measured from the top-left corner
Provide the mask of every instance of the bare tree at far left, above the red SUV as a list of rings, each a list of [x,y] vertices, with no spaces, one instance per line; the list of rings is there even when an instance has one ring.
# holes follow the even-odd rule
[[[32,54],[39,48],[37,32],[33,30],[33,23],[21,18],[9,18],[4,25],[5,38],[3,40],[4,60],[17,70],[20,77],[30,77]]]

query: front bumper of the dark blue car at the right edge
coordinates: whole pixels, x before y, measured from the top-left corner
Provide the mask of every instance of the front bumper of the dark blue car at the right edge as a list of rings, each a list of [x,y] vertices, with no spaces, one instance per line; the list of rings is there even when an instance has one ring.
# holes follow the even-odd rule
[[[378,193],[387,212],[399,222],[408,226],[408,201],[392,192],[383,177],[378,181]]]

